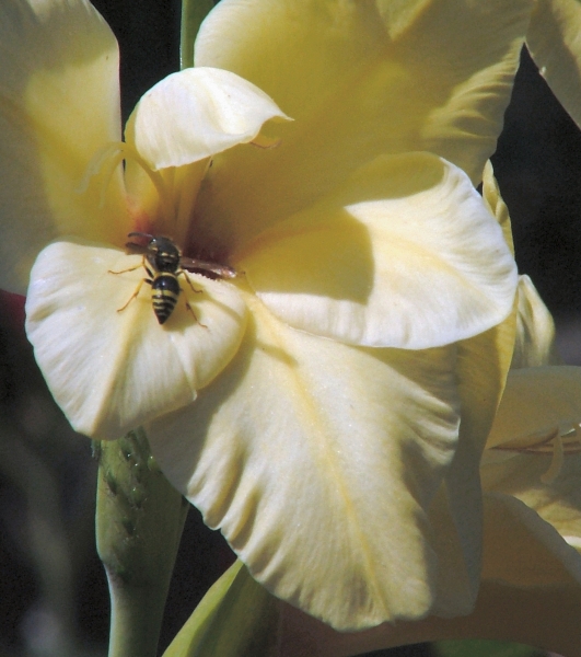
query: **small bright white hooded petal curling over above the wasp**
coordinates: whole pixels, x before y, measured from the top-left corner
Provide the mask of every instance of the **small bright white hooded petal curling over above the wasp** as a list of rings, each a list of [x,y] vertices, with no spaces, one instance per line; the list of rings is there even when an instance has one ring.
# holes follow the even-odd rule
[[[182,166],[252,141],[271,118],[289,117],[251,82],[221,69],[191,68],[142,96],[126,139],[152,169]]]

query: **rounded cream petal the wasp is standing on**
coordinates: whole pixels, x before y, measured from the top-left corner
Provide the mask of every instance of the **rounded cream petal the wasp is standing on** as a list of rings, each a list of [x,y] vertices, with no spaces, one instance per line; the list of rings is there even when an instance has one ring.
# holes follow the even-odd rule
[[[196,397],[234,356],[245,306],[228,283],[188,274],[161,326],[139,256],[56,242],[38,256],[26,301],[26,333],[45,379],[72,426],[119,438]],[[133,270],[115,275],[128,267]],[[188,312],[182,299],[191,306]],[[124,304],[129,304],[124,308]]]

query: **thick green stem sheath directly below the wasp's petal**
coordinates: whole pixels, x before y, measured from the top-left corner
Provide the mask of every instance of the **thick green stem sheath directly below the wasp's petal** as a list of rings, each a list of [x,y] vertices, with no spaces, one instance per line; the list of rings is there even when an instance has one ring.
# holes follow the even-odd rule
[[[154,657],[188,504],[142,429],[98,443],[97,551],[109,584],[108,657]]]

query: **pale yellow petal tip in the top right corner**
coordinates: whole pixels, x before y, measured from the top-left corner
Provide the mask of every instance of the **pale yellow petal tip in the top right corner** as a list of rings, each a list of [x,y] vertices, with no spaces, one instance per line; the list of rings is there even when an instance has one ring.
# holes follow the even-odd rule
[[[526,45],[551,91],[581,126],[581,2],[537,0]]]

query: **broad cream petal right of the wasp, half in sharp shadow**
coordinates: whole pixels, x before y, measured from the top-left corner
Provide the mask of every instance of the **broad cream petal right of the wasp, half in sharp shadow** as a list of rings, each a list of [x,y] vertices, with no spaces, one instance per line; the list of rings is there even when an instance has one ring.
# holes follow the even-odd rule
[[[508,315],[516,286],[502,231],[468,177],[428,153],[376,159],[233,258],[287,323],[373,347],[481,333]]]

